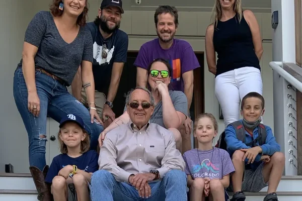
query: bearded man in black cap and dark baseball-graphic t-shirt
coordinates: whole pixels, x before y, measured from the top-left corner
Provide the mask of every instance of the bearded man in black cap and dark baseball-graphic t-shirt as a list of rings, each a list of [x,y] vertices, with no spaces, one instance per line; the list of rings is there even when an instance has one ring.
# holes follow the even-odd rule
[[[128,35],[119,30],[121,0],[103,0],[94,22],[87,23],[93,38],[93,75],[95,81],[95,103],[89,106],[82,88],[81,68],[71,84],[72,95],[89,108],[96,108],[101,124],[110,124],[115,119],[112,111],[124,63],[127,59]]]

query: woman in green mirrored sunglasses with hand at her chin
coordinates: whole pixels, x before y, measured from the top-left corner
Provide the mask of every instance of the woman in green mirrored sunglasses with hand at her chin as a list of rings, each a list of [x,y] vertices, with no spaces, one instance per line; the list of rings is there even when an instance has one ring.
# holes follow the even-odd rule
[[[182,91],[169,90],[171,81],[171,66],[164,59],[155,59],[148,68],[148,88],[155,100],[154,113],[150,117],[150,123],[156,123],[170,130],[175,138],[176,148],[181,151],[180,126],[185,122],[188,112],[187,97]],[[129,103],[128,107],[147,108],[144,103]],[[121,124],[127,124],[130,118],[125,106],[124,114],[115,119],[100,135],[99,144],[102,145],[105,135]]]

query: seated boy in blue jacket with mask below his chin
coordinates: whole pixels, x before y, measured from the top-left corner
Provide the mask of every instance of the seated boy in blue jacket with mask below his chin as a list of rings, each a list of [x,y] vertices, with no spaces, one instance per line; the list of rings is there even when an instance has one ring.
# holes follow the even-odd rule
[[[245,143],[238,140],[236,128],[225,129],[226,150],[232,157],[235,173],[231,177],[230,190],[234,191],[231,201],[244,201],[243,191],[257,192],[268,185],[264,201],[277,201],[276,190],[285,166],[285,156],[280,152],[272,130],[260,125],[264,115],[264,98],[257,92],[245,95],[241,103],[240,120],[245,129]],[[259,127],[266,132],[265,143],[259,146]],[[250,146],[247,146],[250,145]]]

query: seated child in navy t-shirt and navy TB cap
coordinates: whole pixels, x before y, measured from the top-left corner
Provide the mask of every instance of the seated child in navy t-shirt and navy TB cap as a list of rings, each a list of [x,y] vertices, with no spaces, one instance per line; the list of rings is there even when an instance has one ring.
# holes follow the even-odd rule
[[[54,200],[90,200],[89,183],[99,169],[98,154],[90,150],[90,138],[81,117],[62,118],[58,133],[61,154],[55,156],[45,182]]]

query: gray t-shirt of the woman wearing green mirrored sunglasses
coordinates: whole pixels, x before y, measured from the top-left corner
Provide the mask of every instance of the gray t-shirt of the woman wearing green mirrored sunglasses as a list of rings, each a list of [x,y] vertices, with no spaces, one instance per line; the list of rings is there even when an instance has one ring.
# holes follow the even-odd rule
[[[188,114],[188,100],[187,96],[182,91],[173,91],[169,90],[169,94],[173,103],[173,106],[176,111],[181,112],[185,115]],[[124,111],[127,110],[127,106],[125,106]],[[150,123],[158,124],[164,128],[164,120],[163,120],[163,103],[160,101],[154,108],[154,113],[150,117]]]

